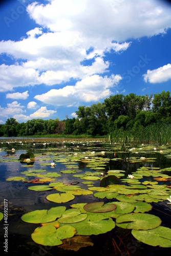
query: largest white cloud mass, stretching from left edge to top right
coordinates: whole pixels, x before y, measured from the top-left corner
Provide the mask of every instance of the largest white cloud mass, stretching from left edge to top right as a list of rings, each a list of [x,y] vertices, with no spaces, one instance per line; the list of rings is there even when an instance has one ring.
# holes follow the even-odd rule
[[[1,53],[19,60],[0,66],[0,92],[104,74],[110,67],[110,62],[103,60],[106,52],[127,50],[132,38],[166,33],[170,10],[155,0],[31,3],[27,12],[39,27],[18,41],[0,42]],[[81,65],[84,60],[92,60],[92,64]]]

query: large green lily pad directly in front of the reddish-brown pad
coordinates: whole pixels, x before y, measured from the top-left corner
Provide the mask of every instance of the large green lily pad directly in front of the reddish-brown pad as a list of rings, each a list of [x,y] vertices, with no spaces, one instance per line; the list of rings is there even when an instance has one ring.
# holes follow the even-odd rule
[[[90,214],[86,220],[70,225],[76,228],[76,234],[91,236],[92,234],[97,235],[111,231],[115,227],[115,222],[110,217],[107,218],[100,214]]]

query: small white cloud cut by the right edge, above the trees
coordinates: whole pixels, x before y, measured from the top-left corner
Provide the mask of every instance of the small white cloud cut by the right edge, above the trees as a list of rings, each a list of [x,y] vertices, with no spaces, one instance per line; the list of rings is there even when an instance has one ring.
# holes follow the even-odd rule
[[[154,70],[147,70],[147,73],[143,75],[145,82],[159,83],[166,82],[171,79],[171,64],[168,63],[163,67]]]

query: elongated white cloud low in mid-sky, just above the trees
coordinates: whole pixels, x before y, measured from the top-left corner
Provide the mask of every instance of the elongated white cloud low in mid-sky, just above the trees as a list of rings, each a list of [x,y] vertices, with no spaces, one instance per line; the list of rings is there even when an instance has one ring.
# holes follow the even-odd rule
[[[84,76],[82,80],[76,82],[75,86],[52,89],[47,93],[36,95],[34,98],[56,106],[71,106],[79,101],[98,101],[110,96],[110,88],[114,88],[121,79],[120,75],[112,75],[111,77]]]

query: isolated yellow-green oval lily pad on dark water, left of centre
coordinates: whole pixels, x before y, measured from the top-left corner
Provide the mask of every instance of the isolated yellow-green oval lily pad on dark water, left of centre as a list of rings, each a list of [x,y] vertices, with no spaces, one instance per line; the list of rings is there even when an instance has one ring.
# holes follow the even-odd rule
[[[47,200],[54,202],[54,203],[66,203],[71,200],[73,200],[75,197],[72,194],[69,193],[55,193],[55,194],[50,194],[46,197]]]

